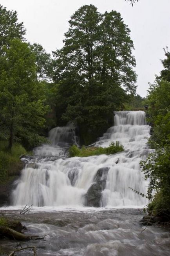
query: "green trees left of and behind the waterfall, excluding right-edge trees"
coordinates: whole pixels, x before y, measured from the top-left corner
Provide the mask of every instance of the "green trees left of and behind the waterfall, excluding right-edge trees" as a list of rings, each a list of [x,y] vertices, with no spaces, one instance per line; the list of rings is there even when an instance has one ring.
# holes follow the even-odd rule
[[[25,33],[16,11],[0,5],[0,141],[9,152],[13,143],[31,150],[67,122],[87,145],[113,124],[114,110],[130,101],[128,108],[141,106],[134,46],[120,13],[80,7],[53,58]]]

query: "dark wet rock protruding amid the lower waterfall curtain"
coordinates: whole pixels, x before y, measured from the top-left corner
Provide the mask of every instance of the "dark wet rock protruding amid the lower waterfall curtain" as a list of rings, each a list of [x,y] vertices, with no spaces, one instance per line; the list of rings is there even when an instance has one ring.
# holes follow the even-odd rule
[[[100,207],[101,192],[106,187],[106,179],[109,167],[100,168],[94,178],[94,183],[85,195],[86,206]]]

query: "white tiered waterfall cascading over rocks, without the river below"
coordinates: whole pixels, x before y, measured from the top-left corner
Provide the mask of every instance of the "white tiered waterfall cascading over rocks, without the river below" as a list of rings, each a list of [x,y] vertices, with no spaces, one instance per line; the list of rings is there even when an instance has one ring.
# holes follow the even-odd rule
[[[77,143],[73,128],[52,129],[51,145],[35,149],[39,157],[30,160],[34,163],[25,166],[16,182],[13,205],[143,206],[146,198],[128,187],[146,194],[148,183],[143,179],[139,162],[148,155],[149,132],[144,111],[115,112],[114,126],[95,145],[107,147],[111,141],[119,141],[125,151],[114,155],[52,159],[49,156],[64,156],[63,143]],[[98,203],[94,203],[96,198]]]

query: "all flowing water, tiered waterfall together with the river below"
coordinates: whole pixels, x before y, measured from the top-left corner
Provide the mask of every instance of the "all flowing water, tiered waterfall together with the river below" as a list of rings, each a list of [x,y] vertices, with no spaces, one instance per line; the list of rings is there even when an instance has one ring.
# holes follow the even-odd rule
[[[5,215],[20,218],[29,234],[45,236],[22,246],[35,245],[38,256],[169,255],[168,230],[149,226],[141,233],[141,209],[148,202],[128,188],[146,194],[148,182],[139,162],[150,152],[149,132],[143,111],[115,112],[114,126],[94,145],[119,141],[125,151],[68,158],[69,145],[78,145],[76,130],[71,125],[52,129],[51,145],[23,159],[27,165],[14,184],[12,206],[1,208]],[[33,212],[18,215],[25,204],[33,204]],[[0,245],[13,250],[16,242],[0,240]]]

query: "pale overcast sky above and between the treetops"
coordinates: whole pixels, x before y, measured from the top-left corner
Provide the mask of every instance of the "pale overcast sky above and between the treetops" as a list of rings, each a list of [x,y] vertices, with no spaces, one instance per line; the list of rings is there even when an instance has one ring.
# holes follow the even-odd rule
[[[0,0],[7,9],[16,10],[24,22],[26,38],[40,43],[47,52],[63,46],[71,15],[85,4],[94,4],[98,11],[116,10],[131,30],[136,58],[137,93],[146,96],[148,82],[163,69],[163,48],[170,49],[170,0],[139,0],[132,7],[125,0]]]

